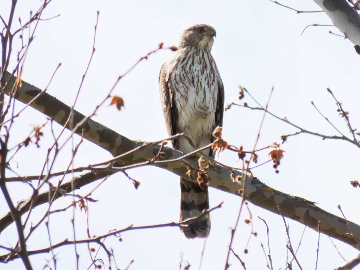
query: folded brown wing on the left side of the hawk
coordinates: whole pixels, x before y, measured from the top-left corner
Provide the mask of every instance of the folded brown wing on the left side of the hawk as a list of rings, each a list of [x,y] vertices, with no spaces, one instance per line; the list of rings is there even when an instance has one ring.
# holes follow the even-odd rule
[[[165,62],[159,74],[159,87],[161,105],[165,117],[166,128],[169,136],[175,135],[177,130],[177,108],[175,106],[174,94],[170,86],[171,75],[167,73],[167,62]],[[177,141],[172,140],[172,147],[177,149]]]

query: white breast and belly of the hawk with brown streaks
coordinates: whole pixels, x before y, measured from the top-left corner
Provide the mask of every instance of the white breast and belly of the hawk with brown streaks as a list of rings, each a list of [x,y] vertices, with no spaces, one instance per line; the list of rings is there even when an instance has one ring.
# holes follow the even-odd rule
[[[178,129],[194,140],[212,133],[219,91],[210,52],[178,58],[172,69],[171,89],[178,111]],[[219,76],[220,77],[220,76]],[[195,140],[196,141],[196,140]]]

